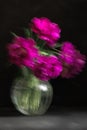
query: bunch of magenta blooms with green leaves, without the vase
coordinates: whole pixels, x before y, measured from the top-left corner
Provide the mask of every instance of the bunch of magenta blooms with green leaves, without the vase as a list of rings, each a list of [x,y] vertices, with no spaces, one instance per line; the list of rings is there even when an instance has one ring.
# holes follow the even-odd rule
[[[14,34],[8,44],[9,59],[26,66],[40,80],[71,78],[82,71],[86,58],[69,41],[58,43],[61,29],[46,17],[32,18],[25,37]]]

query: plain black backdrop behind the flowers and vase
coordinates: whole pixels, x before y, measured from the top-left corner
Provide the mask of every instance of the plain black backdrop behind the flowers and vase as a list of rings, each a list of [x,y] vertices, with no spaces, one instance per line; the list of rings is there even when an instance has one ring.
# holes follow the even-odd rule
[[[21,35],[33,17],[48,17],[62,29],[60,41],[69,40],[87,56],[87,0],[0,0],[0,108],[14,108],[11,83],[17,69],[8,65],[6,45],[10,32]],[[73,79],[57,78],[54,107],[87,107],[87,67]]]

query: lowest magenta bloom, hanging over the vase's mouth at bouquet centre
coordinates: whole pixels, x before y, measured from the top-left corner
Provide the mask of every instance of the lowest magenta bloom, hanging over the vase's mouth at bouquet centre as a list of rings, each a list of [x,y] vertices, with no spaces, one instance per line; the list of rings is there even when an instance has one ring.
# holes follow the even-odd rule
[[[42,55],[35,64],[33,72],[41,80],[50,80],[51,78],[56,78],[60,75],[62,72],[62,64],[54,55]]]

